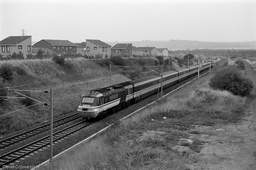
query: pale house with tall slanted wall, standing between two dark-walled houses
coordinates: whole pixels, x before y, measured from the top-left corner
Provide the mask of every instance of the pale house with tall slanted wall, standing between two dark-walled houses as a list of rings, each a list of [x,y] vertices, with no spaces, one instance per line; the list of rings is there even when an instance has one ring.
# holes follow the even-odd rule
[[[94,58],[105,58],[111,55],[111,45],[100,40],[86,40],[86,55]]]

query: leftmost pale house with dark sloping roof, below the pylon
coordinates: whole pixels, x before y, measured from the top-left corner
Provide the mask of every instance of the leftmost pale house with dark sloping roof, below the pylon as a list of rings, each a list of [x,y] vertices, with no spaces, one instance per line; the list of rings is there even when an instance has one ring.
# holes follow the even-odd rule
[[[14,52],[19,53],[19,51],[25,57],[26,54],[31,53],[31,36],[9,36],[0,41],[0,46],[2,57],[10,56]]]

